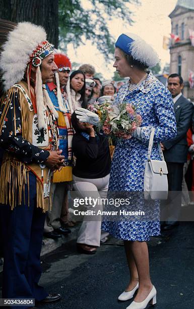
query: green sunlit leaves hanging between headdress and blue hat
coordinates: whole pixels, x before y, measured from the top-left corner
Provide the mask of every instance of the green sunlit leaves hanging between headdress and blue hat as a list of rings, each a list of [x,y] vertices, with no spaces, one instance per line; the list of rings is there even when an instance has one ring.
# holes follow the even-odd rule
[[[91,40],[107,61],[112,60],[114,41],[107,21],[112,18],[133,23],[132,12],[126,4],[140,4],[140,0],[59,0],[59,42],[65,49],[68,43],[75,48]]]

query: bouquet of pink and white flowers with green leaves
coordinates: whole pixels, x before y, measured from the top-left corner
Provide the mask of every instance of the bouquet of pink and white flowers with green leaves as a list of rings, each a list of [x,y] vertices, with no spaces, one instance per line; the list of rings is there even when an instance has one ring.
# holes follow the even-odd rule
[[[99,129],[110,137],[131,138],[132,133],[142,123],[142,117],[136,113],[135,106],[128,103],[115,106],[105,102],[99,106],[96,102],[93,111],[96,111],[100,118]]]

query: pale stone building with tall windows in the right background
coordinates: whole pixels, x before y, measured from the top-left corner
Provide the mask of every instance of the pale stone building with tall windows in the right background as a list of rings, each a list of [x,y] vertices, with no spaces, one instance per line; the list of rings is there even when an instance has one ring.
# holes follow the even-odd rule
[[[194,0],[178,0],[175,9],[169,15],[171,33],[180,37],[172,40],[170,46],[170,74],[178,73],[184,80],[183,94],[194,101],[194,88],[189,88],[189,70],[194,72],[194,47],[189,39],[188,29],[194,30]]]

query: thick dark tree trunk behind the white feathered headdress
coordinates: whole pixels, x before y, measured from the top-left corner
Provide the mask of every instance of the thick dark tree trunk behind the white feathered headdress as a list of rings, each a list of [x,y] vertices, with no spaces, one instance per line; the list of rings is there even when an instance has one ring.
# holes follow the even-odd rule
[[[44,27],[48,41],[58,46],[58,0],[0,0],[0,18],[30,21]]]

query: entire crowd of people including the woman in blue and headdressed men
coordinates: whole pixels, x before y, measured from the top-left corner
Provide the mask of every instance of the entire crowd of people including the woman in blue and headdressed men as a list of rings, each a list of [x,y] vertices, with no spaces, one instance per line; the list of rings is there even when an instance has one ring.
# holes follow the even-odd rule
[[[173,193],[181,192],[182,185],[185,188],[194,153],[194,108],[182,95],[181,76],[171,74],[166,87],[148,70],[157,64],[157,54],[134,34],[121,34],[115,43],[113,67],[126,78],[116,83],[102,82],[89,64],[72,72],[71,60],[53,49],[41,27],[5,20],[0,20],[0,27],[2,297],[51,302],[60,295],[48,294],[38,284],[43,234],[58,239],[71,233],[76,224],[69,220],[71,190],[94,198],[106,197],[107,191],[143,191],[152,128],[151,158],[161,160],[160,143],[172,192],[161,228],[178,225],[181,198]],[[91,112],[94,104],[107,101],[115,106],[133,104],[142,117],[132,138],[116,140],[113,158],[109,139],[96,130],[99,117]],[[153,206],[158,219],[109,221],[84,216],[77,249],[94,254],[109,233],[122,239],[130,279],[118,299],[127,301],[137,291],[127,308],[144,309],[150,301],[156,303],[146,241],[160,234],[160,201],[140,197],[134,203],[143,209]],[[96,205],[97,210],[103,207],[100,202]]]

